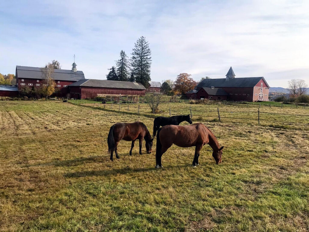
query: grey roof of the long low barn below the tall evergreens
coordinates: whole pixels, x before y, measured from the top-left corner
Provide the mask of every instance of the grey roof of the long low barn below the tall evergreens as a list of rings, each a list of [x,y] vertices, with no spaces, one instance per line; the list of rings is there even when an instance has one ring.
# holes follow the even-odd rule
[[[102,88],[128,88],[146,89],[141,83],[118,80],[83,79],[69,86],[102,87]]]

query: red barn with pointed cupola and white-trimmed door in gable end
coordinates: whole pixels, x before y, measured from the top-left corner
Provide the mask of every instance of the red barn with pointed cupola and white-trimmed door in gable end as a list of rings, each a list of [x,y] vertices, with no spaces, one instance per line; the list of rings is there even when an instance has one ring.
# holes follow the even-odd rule
[[[222,88],[227,94],[227,100],[234,101],[268,101],[269,84],[264,77],[235,78],[232,67],[226,74],[226,78],[204,79],[194,89]],[[199,96],[188,92],[187,96],[198,98]],[[193,97],[194,96],[194,97]]]

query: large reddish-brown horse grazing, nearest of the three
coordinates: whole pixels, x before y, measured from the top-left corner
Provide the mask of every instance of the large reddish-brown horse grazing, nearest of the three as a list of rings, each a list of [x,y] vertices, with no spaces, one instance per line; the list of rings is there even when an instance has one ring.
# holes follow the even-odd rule
[[[199,165],[198,157],[200,150],[205,144],[213,149],[213,157],[217,164],[221,163],[222,149],[219,146],[216,136],[202,123],[195,123],[189,126],[168,125],[161,127],[157,134],[156,168],[162,168],[161,157],[172,144],[182,148],[195,146],[192,166]]]

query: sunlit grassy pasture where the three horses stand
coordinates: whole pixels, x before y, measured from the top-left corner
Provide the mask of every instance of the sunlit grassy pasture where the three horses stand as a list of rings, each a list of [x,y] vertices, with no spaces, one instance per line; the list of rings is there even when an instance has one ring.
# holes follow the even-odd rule
[[[169,106],[188,114],[190,105],[163,105],[162,113]],[[173,145],[156,170],[155,143],[152,154],[143,143],[142,155],[136,145],[129,156],[126,141],[120,159],[109,161],[106,139],[115,122],[142,121],[152,133],[146,105],[138,115],[92,103],[1,101],[0,231],[308,231],[309,117],[283,115],[304,124],[281,124],[279,114],[264,114],[274,122],[260,125],[218,122],[194,110],[220,108],[230,116],[246,109],[191,107],[193,122],[204,122],[225,147],[222,164],[205,145],[193,169],[194,148]]]

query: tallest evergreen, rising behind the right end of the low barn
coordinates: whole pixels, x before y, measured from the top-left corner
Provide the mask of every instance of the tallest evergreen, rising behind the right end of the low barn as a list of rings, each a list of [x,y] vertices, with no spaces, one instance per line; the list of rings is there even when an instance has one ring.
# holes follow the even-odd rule
[[[136,82],[142,83],[146,88],[150,81],[151,50],[145,37],[140,37],[134,44],[131,66]]]

